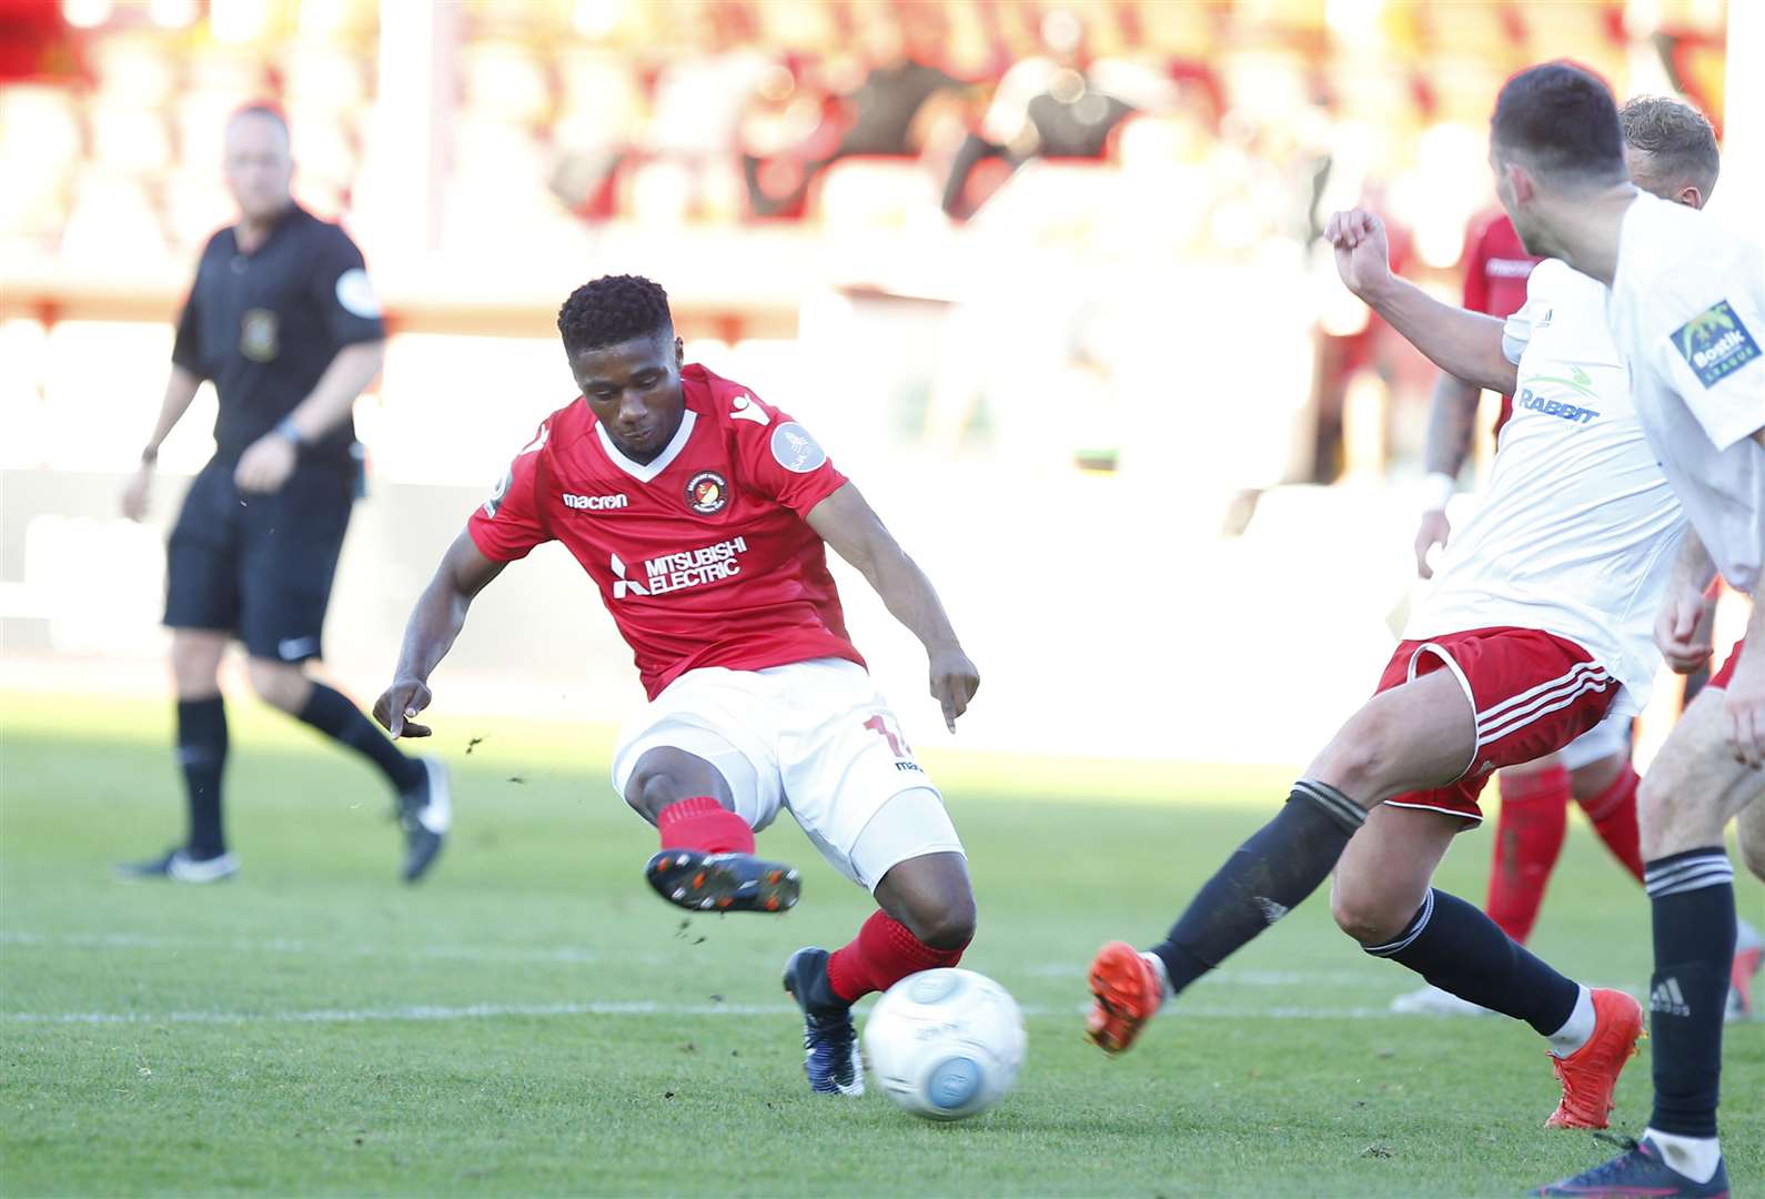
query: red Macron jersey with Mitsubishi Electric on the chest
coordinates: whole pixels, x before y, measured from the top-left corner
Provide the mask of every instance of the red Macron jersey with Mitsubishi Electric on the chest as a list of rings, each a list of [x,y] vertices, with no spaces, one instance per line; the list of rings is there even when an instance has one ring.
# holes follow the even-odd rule
[[[863,666],[826,546],[803,519],[845,475],[740,383],[688,366],[681,390],[680,431],[648,464],[618,450],[586,401],[554,411],[471,514],[471,540],[496,562],[563,542],[651,699],[701,666]]]

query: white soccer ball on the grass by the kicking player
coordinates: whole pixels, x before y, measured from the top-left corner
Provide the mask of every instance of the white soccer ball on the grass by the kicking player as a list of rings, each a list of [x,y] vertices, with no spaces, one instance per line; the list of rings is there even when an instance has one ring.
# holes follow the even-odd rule
[[[1024,1065],[1024,1014],[971,969],[897,982],[865,1021],[865,1058],[882,1093],[927,1120],[965,1120],[1011,1090]]]

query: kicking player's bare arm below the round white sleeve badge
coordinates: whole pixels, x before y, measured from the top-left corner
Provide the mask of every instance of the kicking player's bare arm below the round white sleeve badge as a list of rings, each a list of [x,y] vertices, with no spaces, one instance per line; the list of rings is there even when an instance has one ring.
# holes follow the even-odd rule
[[[890,615],[925,645],[932,662],[932,699],[943,706],[944,724],[955,733],[957,717],[969,710],[981,676],[962,652],[925,570],[905,554],[849,482],[808,510],[808,526],[865,576]]]

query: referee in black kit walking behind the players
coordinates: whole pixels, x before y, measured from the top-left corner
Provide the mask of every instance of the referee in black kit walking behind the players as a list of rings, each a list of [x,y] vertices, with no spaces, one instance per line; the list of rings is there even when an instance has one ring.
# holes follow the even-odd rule
[[[448,779],[406,758],[337,690],[307,676],[319,657],[337,553],[362,468],[351,408],[385,358],[385,327],[362,253],[289,194],[288,124],[249,106],[226,127],[224,171],[238,224],[208,238],[178,318],[171,378],[124,514],[146,512],[159,445],[203,380],[221,399],[215,456],[171,530],[166,625],[178,690],[178,765],[189,839],[122,867],[132,876],[214,883],[238,872],[221,828],[226,710],[221,655],[238,637],[252,689],[357,750],[397,793],[404,879],[424,876],[448,826]]]

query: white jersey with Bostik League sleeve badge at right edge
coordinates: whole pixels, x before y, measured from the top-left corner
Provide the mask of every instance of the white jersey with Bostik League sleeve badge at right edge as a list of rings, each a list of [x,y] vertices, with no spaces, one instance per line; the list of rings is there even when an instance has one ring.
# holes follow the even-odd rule
[[[1684,205],[1624,214],[1611,334],[1643,433],[1730,586],[1765,569],[1765,251]]]

